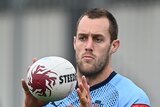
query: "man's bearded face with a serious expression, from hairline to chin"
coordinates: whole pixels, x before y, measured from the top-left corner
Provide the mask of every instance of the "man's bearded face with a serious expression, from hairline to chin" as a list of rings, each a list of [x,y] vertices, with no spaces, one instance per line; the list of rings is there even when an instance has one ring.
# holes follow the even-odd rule
[[[110,61],[110,47],[108,19],[84,16],[74,39],[78,72],[86,77],[102,72]]]

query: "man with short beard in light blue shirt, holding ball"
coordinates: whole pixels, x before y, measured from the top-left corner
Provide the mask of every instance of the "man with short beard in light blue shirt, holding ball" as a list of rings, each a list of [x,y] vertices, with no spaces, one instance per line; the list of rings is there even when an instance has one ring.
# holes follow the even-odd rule
[[[117,35],[118,25],[110,12],[99,8],[85,12],[74,37],[77,87],[68,97],[45,104],[29,93],[22,80],[24,107],[150,107],[145,92],[112,68],[112,54],[120,45]]]

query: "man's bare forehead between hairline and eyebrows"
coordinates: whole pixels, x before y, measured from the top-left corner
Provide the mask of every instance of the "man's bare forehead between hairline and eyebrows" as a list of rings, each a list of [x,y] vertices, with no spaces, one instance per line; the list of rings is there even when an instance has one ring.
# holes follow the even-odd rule
[[[88,16],[84,16],[77,27],[77,32],[108,33],[108,31],[109,21],[106,17],[91,19]]]

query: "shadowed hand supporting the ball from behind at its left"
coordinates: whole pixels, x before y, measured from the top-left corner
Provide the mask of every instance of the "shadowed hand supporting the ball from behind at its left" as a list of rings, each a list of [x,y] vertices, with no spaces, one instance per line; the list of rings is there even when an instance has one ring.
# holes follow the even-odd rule
[[[34,63],[37,61],[37,59],[34,58],[32,61]],[[23,90],[25,92],[25,104],[23,107],[42,107],[47,104],[46,102],[40,101],[36,99],[35,97],[33,97],[24,79],[22,79],[21,82],[22,82]]]

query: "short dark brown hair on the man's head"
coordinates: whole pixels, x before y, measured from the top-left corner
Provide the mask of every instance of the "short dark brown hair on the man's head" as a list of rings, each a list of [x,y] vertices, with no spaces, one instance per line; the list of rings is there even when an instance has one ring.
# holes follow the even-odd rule
[[[88,18],[91,18],[91,19],[106,17],[109,20],[109,33],[111,35],[111,42],[118,38],[118,24],[117,24],[117,21],[114,18],[114,16],[109,11],[107,11],[106,9],[94,8],[94,9],[86,11],[78,19],[77,27],[79,25],[80,20],[84,16],[88,16]]]

